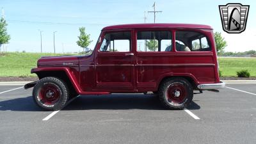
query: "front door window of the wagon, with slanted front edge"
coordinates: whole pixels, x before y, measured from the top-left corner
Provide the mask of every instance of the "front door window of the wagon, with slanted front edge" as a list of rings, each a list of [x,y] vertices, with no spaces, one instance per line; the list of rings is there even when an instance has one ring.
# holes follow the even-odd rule
[[[131,51],[131,33],[107,33],[100,45],[102,52],[129,52]]]

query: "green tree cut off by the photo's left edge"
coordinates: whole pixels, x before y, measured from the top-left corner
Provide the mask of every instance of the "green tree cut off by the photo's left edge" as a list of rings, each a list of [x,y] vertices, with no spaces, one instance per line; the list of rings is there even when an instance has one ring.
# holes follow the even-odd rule
[[[0,20],[0,52],[1,52],[1,45],[7,44],[11,39],[11,36],[7,33],[7,24],[3,17]]]

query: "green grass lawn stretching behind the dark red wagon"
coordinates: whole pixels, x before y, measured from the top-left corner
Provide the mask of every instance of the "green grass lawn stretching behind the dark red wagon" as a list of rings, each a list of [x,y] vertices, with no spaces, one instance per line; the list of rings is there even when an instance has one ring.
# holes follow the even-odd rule
[[[6,52],[0,53],[0,77],[31,77],[31,68],[41,56],[61,56],[63,54]],[[65,54],[74,55],[74,54]],[[218,58],[223,76],[236,76],[238,70],[247,69],[256,77],[256,58]]]

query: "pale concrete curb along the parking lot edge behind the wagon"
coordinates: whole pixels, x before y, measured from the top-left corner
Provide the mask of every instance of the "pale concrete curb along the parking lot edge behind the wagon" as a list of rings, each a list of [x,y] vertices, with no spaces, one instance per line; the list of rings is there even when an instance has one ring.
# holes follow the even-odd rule
[[[221,80],[226,84],[256,84],[256,80]],[[0,82],[0,86],[21,86],[32,81],[6,81]]]

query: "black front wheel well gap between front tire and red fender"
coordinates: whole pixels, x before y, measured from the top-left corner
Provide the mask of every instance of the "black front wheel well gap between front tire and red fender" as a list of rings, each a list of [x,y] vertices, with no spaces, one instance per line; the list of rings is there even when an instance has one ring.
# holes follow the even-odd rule
[[[73,84],[71,83],[70,79],[68,79],[68,76],[66,72],[64,71],[42,71],[42,72],[36,72],[36,75],[39,79],[42,79],[44,77],[58,77],[59,79],[63,80],[69,89],[69,92],[71,95],[78,95],[76,90],[74,89]]]

